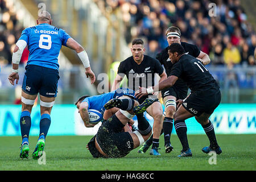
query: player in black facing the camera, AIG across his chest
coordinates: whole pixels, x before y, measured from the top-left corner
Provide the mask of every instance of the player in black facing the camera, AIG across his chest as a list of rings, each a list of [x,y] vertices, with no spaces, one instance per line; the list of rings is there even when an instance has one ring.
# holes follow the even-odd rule
[[[119,87],[123,77],[127,77],[128,86],[131,90],[138,90],[139,86],[154,86],[155,73],[160,76],[160,81],[167,78],[166,72],[158,60],[144,55],[145,48],[142,39],[135,39],[132,42],[131,53],[133,56],[122,61],[118,67],[117,76],[115,77],[112,90]],[[139,98],[141,104],[148,96]],[[150,97],[154,97],[152,94]],[[155,96],[156,97],[156,96]],[[159,137],[163,126],[163,108],[160,102],[154,102],[147,109],[147,113],[154,118],[153,124],[153,139],[150,155],[160,155],[158,152]]]

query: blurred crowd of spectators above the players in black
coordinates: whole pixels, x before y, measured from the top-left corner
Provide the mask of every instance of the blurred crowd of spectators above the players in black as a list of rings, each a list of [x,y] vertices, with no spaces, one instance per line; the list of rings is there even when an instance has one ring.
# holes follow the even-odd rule
[[[181,41],[196,44],[208,53],[214,65],[256,65],[256,35],[247,21],[240,0],[94,0],[102,10],[122,11],[126,41],[141,37],[147,42],[147,55],[167,47],[165,31],[181,30]],[[209,3],[216,12],[209,16]]]

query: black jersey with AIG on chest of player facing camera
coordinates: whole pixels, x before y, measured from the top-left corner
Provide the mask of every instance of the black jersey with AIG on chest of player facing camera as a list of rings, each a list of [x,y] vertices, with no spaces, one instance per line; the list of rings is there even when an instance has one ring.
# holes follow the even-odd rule
[[[138,90],[139,86],[147,88],[155,85],[155,73],[162,75],[164,69],[158,60],[144,55],[141,64],[137,64],[133,56],[122,61],[118,67],[118,75],[127,77],[129,89]]]

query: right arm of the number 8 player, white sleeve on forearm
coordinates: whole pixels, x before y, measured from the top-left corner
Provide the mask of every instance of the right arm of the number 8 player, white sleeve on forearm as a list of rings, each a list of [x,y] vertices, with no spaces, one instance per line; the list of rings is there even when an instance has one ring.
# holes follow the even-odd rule
[[[88,58],[87,53],[85,52],[85,49],[79,43],[77,43],[76,40],[74,40],[72,38],[69,38],[67,40],[67,47],[76,51],[77,55],[79,56],[79,58],[82,61],[82,64],[85,67],[86,77],[87,78],[90,77],[91,84],[93,84],[96,80],[96,77],[95,77],[92,69],[90,68],[89,58]]]

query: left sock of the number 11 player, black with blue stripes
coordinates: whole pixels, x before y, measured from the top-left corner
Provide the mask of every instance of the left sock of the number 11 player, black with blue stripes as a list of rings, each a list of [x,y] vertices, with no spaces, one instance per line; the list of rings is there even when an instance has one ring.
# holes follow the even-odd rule
[[[183,151],[188,150],[188,138],[187,138],[187,126],[185,124],[184,119],[180,119],[174,122],[174,127],[177,133],[177,136],[180,139],[180,143],[183,147]]]

